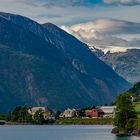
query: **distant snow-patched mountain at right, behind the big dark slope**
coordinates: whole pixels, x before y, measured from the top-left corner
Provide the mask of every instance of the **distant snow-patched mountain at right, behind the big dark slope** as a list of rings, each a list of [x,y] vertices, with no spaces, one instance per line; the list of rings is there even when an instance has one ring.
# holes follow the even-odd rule
[[[126,52],[102,53],[96,50],[95,54],[106,64],[111,66],[116,73],[131,83],[140,81],[140,50],[131,49]]]

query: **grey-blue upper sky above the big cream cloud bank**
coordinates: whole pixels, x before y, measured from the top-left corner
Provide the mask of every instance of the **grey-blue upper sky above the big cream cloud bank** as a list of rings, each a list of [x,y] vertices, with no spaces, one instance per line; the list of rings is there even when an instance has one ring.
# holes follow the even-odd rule
[[[140,0],[0,0],[0,11],[58,26],[100,18],[140,23]]]

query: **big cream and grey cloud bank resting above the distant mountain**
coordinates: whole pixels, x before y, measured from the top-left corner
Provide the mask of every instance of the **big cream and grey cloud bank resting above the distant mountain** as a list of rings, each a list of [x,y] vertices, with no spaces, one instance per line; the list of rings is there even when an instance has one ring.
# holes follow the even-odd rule
[[[90,46],[140,47],[140,23],[98,19],[61,28]]]

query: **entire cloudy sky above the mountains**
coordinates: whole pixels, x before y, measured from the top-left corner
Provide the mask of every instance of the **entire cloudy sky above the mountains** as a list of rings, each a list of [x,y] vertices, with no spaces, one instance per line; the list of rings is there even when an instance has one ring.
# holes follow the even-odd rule
[[[140,48],[140,0],[0,0],[0,11],[51,22],[91,46]]]

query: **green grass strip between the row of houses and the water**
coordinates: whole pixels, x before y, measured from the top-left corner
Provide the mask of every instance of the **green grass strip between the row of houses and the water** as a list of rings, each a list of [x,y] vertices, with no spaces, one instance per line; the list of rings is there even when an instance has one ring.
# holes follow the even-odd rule
[[[67,118],[59,119],[56,124],[112,124],[111,118]]]

